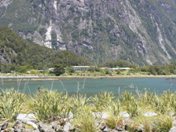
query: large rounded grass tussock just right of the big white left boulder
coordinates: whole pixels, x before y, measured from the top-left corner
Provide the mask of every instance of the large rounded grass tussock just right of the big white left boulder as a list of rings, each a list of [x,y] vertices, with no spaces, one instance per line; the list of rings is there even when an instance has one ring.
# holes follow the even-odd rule
[[[30,108],[34,111],[39,120],[55,120],[59,116],[66,116],[69,112],[69,102],[67,94],[40,90],[33,97]]]

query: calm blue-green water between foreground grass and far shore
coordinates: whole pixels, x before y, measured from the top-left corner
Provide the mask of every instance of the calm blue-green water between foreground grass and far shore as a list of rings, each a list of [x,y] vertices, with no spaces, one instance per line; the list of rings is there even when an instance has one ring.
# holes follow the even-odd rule
[[[87,95],[99,92],[118,94],[124,91],[144,92],[157,94],[163,91],[176,91],[176,78],[99,78],[99,79],[63,79],[63,80],[23,80],[1,79],[1,90],[15,89],[32,94],[40,88],[61,92],[83,93]]]

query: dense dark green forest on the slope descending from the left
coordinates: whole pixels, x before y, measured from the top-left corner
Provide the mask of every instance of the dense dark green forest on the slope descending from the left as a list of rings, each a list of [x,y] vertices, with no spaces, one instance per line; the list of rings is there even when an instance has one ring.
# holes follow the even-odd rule
[[[9,28],[0,28],[1,72],[26,68],[43,70],[57,64],[70,66],[88,63],[86,58],[69,51],[51,50],[22,39]]]

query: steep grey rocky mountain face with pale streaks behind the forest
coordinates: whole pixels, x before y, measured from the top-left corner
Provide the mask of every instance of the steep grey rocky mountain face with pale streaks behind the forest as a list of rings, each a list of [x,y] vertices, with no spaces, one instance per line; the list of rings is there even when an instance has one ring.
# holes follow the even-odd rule
[[[176,58],[176,0],[0,0],[0,25],[96,63]]]

